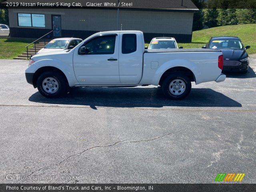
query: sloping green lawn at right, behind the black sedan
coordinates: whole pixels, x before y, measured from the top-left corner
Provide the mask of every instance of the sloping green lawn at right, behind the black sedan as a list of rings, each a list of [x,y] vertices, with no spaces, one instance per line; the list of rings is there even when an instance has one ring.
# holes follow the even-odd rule
[[[221,26],[194,31],[192,43],[178,43],[178,46],[183,48],[202,48],[213,36],[238,36],[244,46],[251,46],[247,53],[256,54],[256,24]],[[148,46],[148,44],[145,46]]]

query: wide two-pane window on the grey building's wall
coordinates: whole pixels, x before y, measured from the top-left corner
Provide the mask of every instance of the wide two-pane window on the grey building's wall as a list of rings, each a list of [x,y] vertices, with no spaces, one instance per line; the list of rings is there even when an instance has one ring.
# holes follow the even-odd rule
[[[45,28],[44,14],[18,13],[18,26]]]

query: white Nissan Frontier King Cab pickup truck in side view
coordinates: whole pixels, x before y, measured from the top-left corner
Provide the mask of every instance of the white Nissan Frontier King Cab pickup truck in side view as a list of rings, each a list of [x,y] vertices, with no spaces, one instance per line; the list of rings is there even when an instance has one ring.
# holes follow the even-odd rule
[[[45,97],[66,94],[70,87],[162,86],[165,96],[181,99],[191,82],[222,82],[223,55],[208,49],[145,50],[140,31],[96,33],[72,50],[33,56],[26,80]]]

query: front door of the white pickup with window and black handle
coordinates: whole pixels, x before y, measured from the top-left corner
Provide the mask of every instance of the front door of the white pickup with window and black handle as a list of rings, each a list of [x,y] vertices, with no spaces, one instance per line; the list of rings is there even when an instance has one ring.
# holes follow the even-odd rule
[[[118,43],[118,34],[103,34],[75,50],[73,66],[80,84],[120,83]]]

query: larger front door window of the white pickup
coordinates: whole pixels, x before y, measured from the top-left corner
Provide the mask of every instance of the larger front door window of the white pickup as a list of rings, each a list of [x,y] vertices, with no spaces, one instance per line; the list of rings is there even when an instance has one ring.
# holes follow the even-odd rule
[[[116,35],[97,37],[84,46],[88,50],[87,54],[101,55],[114,54],[115,52]]]

